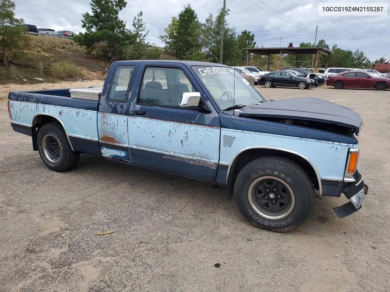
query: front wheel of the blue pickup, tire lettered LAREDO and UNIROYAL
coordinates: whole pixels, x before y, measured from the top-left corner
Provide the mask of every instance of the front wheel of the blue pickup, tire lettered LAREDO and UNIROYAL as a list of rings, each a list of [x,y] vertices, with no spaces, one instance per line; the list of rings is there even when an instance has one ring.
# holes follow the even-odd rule
[[[239,172],[235,185],[238,208],[252,224],[285,231],[304,222],[314,200],[307,173],[292,160],[267,156]]]

